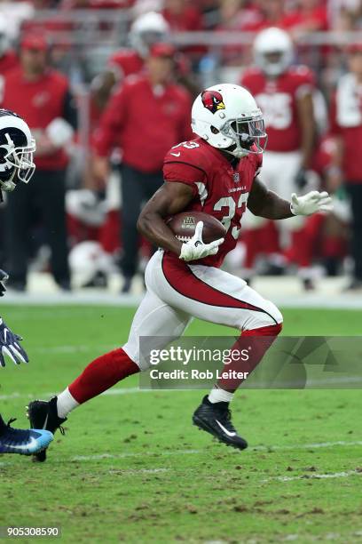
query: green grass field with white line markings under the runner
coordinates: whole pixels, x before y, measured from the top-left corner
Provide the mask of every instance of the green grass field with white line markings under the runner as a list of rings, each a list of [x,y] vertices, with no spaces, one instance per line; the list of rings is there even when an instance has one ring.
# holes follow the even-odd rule
[[[1,311],[31,357],[0,371],[0,411],[19,426],[29,398],[58,392],[122,345],[133,313]],[[283,313],[285,334],[361,330],[362,311]],[[233,331],[194,322],[187,333]],[[362,541],[360,391],[240,391],[234,423],[250,447],[235,452],[192,426],[201,391],[138,393],[137,385],[132,377],[73,412],[45,464],[0,457],[0,526],[60,525],[65,542]]]

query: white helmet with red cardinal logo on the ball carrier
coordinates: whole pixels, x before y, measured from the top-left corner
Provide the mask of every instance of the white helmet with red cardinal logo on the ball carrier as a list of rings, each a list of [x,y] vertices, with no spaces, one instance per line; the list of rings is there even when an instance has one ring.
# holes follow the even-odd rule
[[[244,87],[219,84],[201,92],[193,102],[193,132],[213,148],[240,158],[263,153],[266,147],[264,117]]]

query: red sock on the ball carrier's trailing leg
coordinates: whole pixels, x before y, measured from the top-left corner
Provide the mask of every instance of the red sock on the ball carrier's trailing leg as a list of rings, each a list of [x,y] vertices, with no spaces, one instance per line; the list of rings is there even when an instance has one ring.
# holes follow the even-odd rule
[[[70,384],[69,392],[77,403],[83,404],[136,372],[139,372],[138,365],[126,352],[122,348],[114,349],[92,361]]]

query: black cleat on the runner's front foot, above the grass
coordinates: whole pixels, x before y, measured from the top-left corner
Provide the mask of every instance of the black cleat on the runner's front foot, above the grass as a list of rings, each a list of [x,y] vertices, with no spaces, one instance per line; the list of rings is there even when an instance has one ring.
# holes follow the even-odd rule
[[[248,448],[248,442],[238,435],[232,425],[229,403],[213,404],[210,403],[208,396],[204,396],[199,408],[193,413],[193,425],[237,450]]]

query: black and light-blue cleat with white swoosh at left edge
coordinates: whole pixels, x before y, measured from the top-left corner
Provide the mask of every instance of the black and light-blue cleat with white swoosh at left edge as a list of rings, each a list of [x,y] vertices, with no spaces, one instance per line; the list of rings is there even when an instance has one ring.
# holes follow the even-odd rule
[[[12,428],[10,420],[6,424],[0,416],[0,453],[32,455],[42,452],[51,444],[53,435],[48,430]]]

